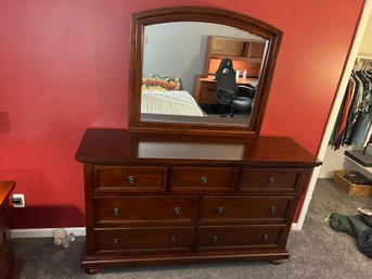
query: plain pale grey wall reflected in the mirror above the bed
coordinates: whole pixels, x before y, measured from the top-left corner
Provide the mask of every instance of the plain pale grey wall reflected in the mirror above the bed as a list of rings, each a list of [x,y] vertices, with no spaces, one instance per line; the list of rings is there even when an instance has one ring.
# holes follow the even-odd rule
[[[187,24],[187,26],[185,26]],[[194,76],[203,74],[207,36],[259,39],[248,33],[210,23],[167,23],[145,28],[143,73],[180,76],[192,92]]]

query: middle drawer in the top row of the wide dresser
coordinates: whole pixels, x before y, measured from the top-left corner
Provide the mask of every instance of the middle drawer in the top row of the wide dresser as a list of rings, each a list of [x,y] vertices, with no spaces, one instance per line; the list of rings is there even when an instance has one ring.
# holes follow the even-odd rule
[[[174,167],[171,190],[182,192],[232,192],[238,167]]]

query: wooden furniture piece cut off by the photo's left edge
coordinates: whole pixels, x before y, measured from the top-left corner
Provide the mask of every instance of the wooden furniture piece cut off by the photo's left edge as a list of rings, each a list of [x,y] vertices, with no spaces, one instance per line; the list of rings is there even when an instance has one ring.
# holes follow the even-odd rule
[[[15,259],[9,231],[9,194],[14,181],[0,181],[0,279],[18,278],[20,262]]]

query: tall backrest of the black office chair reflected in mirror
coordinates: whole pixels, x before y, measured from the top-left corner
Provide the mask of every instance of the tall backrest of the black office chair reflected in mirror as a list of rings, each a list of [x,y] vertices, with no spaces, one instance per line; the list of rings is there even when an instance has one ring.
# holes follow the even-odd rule
[[[232,66],[231,59],[222,59],[216,72],[216,86],[219,89],[229,89],[234,92],[238,91],[236,73]]]

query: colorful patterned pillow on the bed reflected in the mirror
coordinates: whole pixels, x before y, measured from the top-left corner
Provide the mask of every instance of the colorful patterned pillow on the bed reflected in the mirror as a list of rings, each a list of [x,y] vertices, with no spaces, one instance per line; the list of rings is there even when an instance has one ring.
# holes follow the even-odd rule
[[[181,79],[174,76],[142,75],[142,91],[169,91],[180,90]]]

